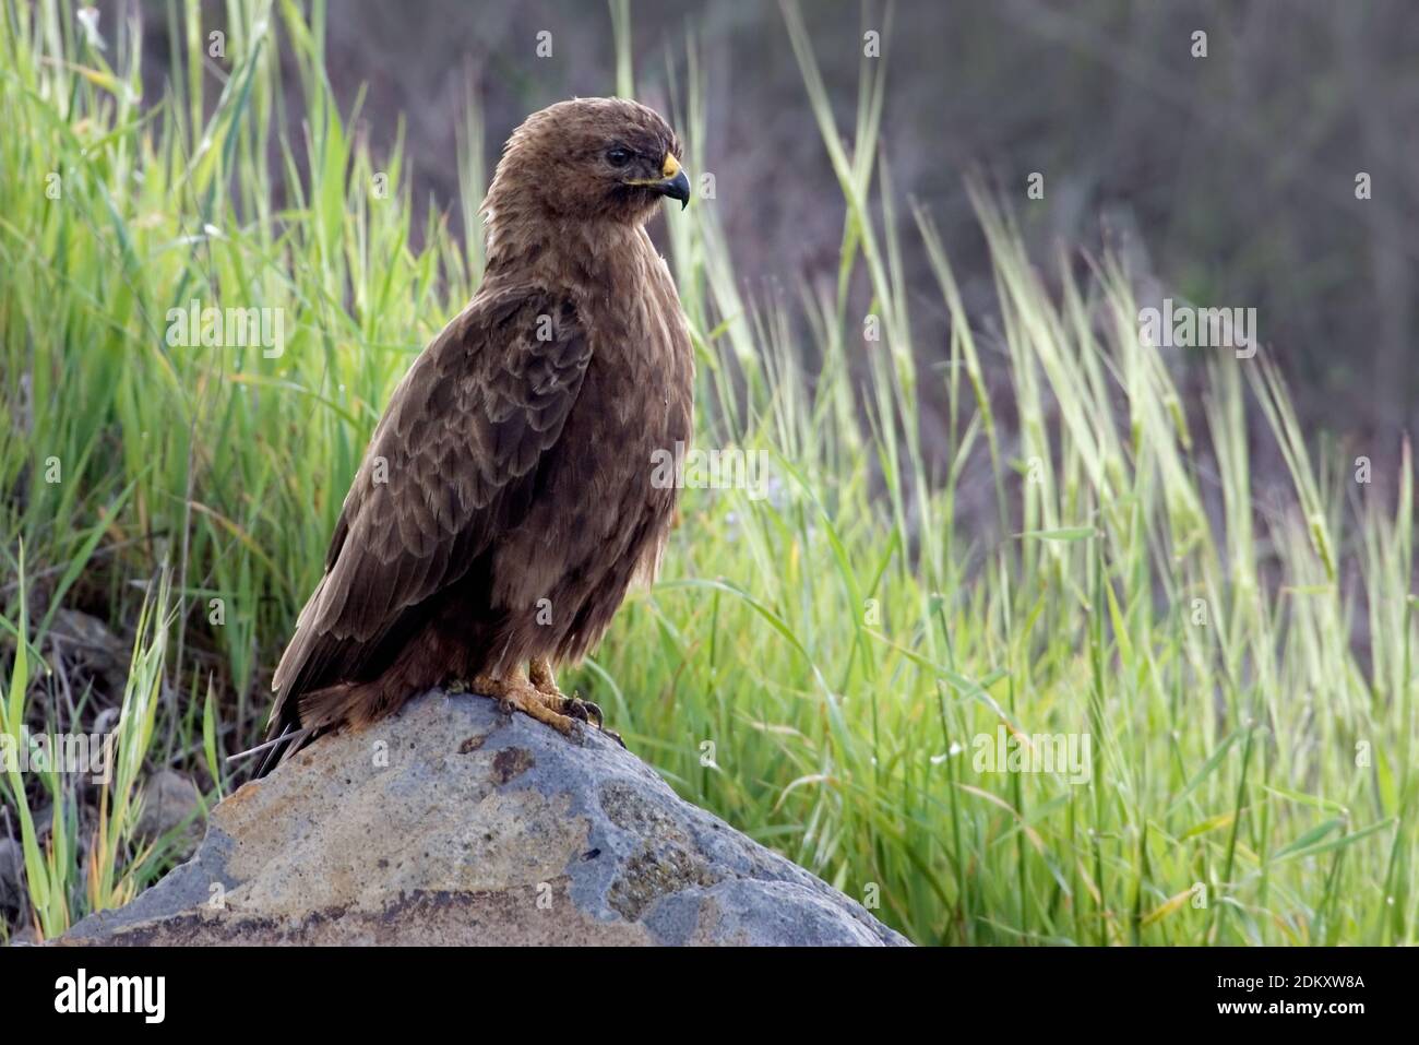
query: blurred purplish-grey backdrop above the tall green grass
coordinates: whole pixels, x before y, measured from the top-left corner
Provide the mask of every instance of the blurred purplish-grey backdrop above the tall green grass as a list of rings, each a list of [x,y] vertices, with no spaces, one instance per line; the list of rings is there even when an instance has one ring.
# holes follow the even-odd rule
[[[143,9],[156,98],[176,21],[162,3]],[[203,4],[204,28],[224,18],[223,4]],[[985,312],[993,298],[962,192],[962,175],[983,172],[1020,202],[1036,253],[1108,243],[1159,290],[1257,308],[1305,422],[1362,437],[1393,464],[1415,420],[1406,359],[1419,302],[1419,20],[1405,0],[902,0],[890,13],[815,0],[805,21],[843,122],[857,104],[861,31],[890,28],[880,143],[897,192],[937,217],[968,308]],[[546,60],[534,57],[542,30]],[[610,89],[609,30],[600,4],[576,0],[345,0],[331,11],[326,70],[342,111],[362,99],[358,126],[376,155],[403,129],[416,204],[457,216],[468,99],[495,158],[528,112]],[[1206,58],[1192,57],[1198,30]],[[778,6],[639,3],[627,43],[646,101],[663,109],[694,50],[704,165],[739,278],[758,291],[834,281],[837,185]],[[1374,182],[1364,202],[1361,170]],[[1046,206],[1023,206],[1030,172],[1046,177]],[[898,221],[911,223],[905,209]],[[904,251],[915,351],[941,359],[946,317],[924,248]]]

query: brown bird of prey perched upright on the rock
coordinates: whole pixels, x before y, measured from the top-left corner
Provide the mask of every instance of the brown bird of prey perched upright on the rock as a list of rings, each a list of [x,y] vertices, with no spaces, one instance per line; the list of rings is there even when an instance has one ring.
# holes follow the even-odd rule
[[[450,682],[563,734],[600,724],[552,669],[654,576],[675,510],[651,461],[690,440],[694,361],[644,226],[688,202],[681,155],[619,98],[559,102],[508,139],[482,284],[375,429],[275,670],[261,772]]]

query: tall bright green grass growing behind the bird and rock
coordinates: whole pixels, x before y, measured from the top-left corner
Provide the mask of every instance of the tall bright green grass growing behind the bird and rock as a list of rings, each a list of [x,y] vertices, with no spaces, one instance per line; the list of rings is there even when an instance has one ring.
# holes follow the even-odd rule
[[[6,731],[92,721],[47,672],[61,605],[102,606],[133,640],[111,785],[0,774],[30,897],[6,934],[53,936],[170,866],[135,836],[148,772],[177,767],[213,801],[241,782],[224,758],[260,733],[369,432],[477,285],[475,221],[465,251],[464,230],[416,219],[400,149],[370,156],[338,109],[324,21],[319,3],[231,0],[220,92],[193,34],[146,99],[133,26],[105,24],[96,50],[57,0],[0,21]],[[951,317],[928,365],[895,231],[911,204],[876,148],[890,61],[864,60],[844,133],[793,4],[785,23],[841,189],[836,290],[742,298],[729,199],[667,233],[698,443],[768,453],[772,496],[685,491],[660,582],[563,683],[685,798],[918,943],[1415,943],[1408,449],[1395,513],[1311,457],[1264,351],[1213,355],[1191,416],[1176,356],[1139,344],[1127,274],[1061,260],[1047,291],[979,186],[999,337],[978,344],[949,244],[914,209]],[[631,82],[622,51],[607,91]],[[688,57],[675,122],[697,172]],[[284,355],[169,346],[167,310],[194,297],[287,310]],[[928,396],[946,405],[929,446]],[[1288,469],[1266,511],[1249,417]],[[958,524],[982,484],[995,528]],[[978,771],[976,737],[1002,724],[1087,733],[1091,782]]]

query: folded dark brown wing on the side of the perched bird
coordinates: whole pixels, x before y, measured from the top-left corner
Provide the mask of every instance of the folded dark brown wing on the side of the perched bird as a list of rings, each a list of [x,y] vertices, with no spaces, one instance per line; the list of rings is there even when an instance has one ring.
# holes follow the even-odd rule
[[[485,291],[399,383],[345,497],[325,575],[277,666],[272,735],[302,693],[359,676],[382,639],[458,581],[531,500],[590,344],[541,287]]]

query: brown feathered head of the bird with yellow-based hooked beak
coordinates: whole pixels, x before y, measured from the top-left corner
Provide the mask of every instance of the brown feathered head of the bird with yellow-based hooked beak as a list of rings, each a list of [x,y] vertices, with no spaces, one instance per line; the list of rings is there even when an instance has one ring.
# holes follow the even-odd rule
[[[643,224],[663,197],[690,202],[675,132],[624,98],[576,98],[512,132],[488,190],[488,210]]]

